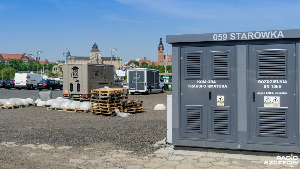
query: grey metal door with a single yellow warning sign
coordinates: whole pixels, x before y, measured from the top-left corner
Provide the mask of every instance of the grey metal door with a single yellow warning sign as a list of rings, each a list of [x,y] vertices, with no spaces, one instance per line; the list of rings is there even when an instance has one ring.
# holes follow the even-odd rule
[[[235,46],[207,47],[207,95],[209,94],[207,138],[235,140]],[[215,132],[220,128],[221,121],[227,132]]]

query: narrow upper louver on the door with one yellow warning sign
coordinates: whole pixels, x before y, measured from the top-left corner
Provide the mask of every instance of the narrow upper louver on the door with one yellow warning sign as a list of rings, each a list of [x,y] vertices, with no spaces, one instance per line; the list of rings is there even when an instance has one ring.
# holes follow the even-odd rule
[[[214,53],[213,54],[213,79],[229,78],[229,54]]]

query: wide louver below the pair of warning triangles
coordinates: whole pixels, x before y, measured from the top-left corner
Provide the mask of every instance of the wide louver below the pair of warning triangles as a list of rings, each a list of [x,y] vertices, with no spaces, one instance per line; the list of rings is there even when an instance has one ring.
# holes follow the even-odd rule
[[[259,136],[287,136],[286,110],[259,110]]]

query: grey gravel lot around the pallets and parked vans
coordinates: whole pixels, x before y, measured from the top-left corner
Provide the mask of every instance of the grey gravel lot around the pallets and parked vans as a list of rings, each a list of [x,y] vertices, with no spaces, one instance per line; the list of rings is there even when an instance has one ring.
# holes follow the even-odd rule
[[[38,94],[37,89],[0,89],[0,99],[36,100]],[[171,94],[172,91],[129,94],[128,98],[143,100],[145,111],[128,117],[71,113],[36,106],[0,109],[0,143],[101,146],[110,150],[133,151],[138,156],[148,155],[161,148],[153,144],[167,136],[167,110],[153,109],[157,104],[167,107],[167,95]],[[52,91],[53,99],[62,95],[61,90]],[[5,160],[3,154],[0,155],[0,163],[2,160]]]

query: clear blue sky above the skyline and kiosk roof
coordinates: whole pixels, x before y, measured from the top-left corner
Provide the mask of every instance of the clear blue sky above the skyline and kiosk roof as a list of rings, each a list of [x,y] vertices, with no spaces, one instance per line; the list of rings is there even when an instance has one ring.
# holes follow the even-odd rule
[[[104,57],[123,63],[157,61],[160,37],[300,28],[297,0],[0,0],[0,53],[32,53],[41,60],[89,56],[94,43]]]

